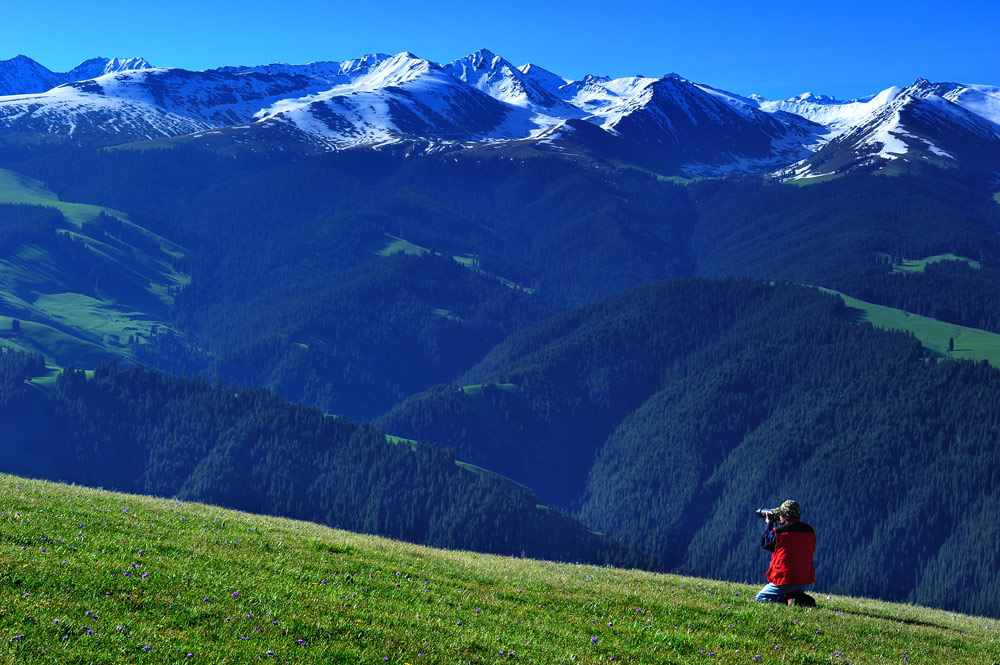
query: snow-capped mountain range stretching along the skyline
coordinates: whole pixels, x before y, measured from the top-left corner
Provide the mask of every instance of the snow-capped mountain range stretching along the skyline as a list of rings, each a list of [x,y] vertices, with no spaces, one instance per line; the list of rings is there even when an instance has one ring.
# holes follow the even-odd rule
[[[893,161],[1000,172],[1000,88],[988,85],[920,80],[849,101],[774,101],[677,74],[574,81],[483,49],[444,65],[400,53],[206,71],[95,58],[61,74],[18,56],[0,62],[0,92],[8,144],[189,137],[315,152],[516,141],[686,176],[810,177]]]

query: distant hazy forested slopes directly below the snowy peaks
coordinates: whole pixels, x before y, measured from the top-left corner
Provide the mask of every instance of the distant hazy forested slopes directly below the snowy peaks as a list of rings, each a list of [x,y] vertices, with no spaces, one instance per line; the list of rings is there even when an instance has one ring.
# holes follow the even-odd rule
[[[190,284],[169,312],[179,335],[134,349],[139,360],[362,419],[456,380],[545,316],[659,279],[783,279],[977,326],[1000,266],[1000,206],[955,176],[681,185],[537,154],[295,159],[192,146],[0,162],[185,248],[175,263]],[[16,237],[24,248],[34,236]],[[380,256],[393,251],[423,258]],[[942,253],[983,270],[961,283],[936,267],[892,272]]]

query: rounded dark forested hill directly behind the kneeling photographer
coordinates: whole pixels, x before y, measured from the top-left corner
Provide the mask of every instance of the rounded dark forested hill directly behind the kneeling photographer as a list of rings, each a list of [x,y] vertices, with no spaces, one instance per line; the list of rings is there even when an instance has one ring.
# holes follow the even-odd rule
[[[794,497],[825,587],[1000,607],[980,538],[1000,517],[1000,371],[928,358],[839,298],[641,287],[514,335],[462,383],[516,388],[442,387],[377,422],[579,505],[670,570],[760,578],[753,510]]]

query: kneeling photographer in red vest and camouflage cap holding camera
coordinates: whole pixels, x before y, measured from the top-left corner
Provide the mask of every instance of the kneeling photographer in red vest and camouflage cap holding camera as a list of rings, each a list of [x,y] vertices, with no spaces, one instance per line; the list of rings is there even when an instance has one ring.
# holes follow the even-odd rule
[[[785,501],[774,510],[758,510],[757,515],[767,519],[760,546],[771,552],[769,584],[757,594],[757,601],[815,605],[813,598],[802,591],[816,581],[816,532],[801,521],[798,502]]]

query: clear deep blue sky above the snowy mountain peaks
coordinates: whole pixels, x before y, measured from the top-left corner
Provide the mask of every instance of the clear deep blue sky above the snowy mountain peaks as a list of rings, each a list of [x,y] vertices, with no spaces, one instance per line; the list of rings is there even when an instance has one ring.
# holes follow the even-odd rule
[[[841,98],[931,80],[1000,85],[1000,2],[83,3],[0,0],[0,59],[93,56],[206,69],[489,48],[569,78],[677,72],[740,94]]]

